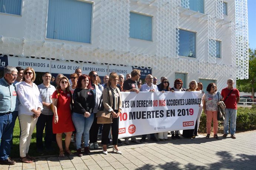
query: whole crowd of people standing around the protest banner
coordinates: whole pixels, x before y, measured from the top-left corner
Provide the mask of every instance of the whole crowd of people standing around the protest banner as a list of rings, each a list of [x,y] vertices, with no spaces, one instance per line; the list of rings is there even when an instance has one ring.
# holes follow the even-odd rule
[[[213,121],[214,138],[218,139],[217,111],[221,104],[226,105],[224,119],[224,135],[230,133],[236,139],[236,110],[240,100],[239,91],[233,88],[233,79],[227,80],[227,87],[221,93],[217,91],[215,83],[210,83],[203,92],[203,84],[192,80],[188,89],[183,88],[183,81],[175,79],[170,87],[167,77],[161,77],[161,83],[157,84],[157,77],[148,74],[145,83],[140,79],[141,72],[133,69],[131,74],[117,75],[112,72],[104,76],[104,83],[101,84],[98,73],[91,71],[89,75],[82,74],[81,69],[76,69],[70,75],[70,79],[63,74],[53,78],[49,72],[42,76],[42,84],[33,83],[36,74],[33,68],[21,67],[4,68],[3,78],[0,79],[0,163],[15,164],[9,158],[12,145],[12,134],[15,121],[18,117],[20,123],[20,160],[23,163],[32,163],[35,157],[29,155],[29,146],[33,130],[36,127],[37,150],[51,149],[52,142],[59,147],[59,156],[72,154],[69,146],[74,135],[76,144],[76,155],[81,157],[83,153],[90,154],[90,150],[98,149],[98,135],[102,134],[102,153],[108,154],[107,145],[112,136],[113,152],[122,154],[118,144],[119,116],[122,112],[121,92],[179,92],[179,91],[202,91],[203,102],[200,104],[198,117],[194,129],[183,130],[182,136],[194,138],[200,122],[201,113],[207,116],[207,136],[211,133],[211,122]],[[223,102],[221,102],[223,101]],[[111,119],[111,122],[97,123],[98,110],[103,110],[104,116]],[[230,120],[230,132],[229,132]],[[45,145],[43,145],[43,130],[45,129]],[[62,146],[62,135],[65,133],[65,149]],[[110,135],[111,134],[111,135]],[[150,134],[150,139],[159,142],[168,140],[168,132]],[[171,132],[171,139],[182,139],[179,130]],[[147,134],[132,136],[131,142],[144,143]],[[129,137],[124,140],[129,145]],[[82,145],[84,150],[82,151]]]

